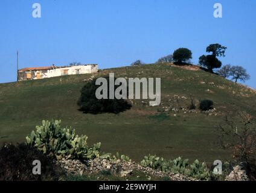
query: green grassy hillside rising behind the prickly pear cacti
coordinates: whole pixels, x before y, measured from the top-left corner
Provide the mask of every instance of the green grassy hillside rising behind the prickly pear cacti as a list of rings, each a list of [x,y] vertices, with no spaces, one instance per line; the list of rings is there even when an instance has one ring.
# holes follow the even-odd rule
[[[167,159],[183,156],[213,162],[230,159],[229,151],[217,145],[216,127],[223,116],[238,110],[256,115],[254,90],[200,69],[144,65],[94,75],[109,72],[115,72],[115,77],[161,77],[161,106],[133,100],[132,109],[119,115],[83,114],[76,103],[83,80],[91,74],[0,84],[0,143],[24,141],[42,119],[62,119],[63,126],[71,125],[77,133],[88,135],[89,143],[100,141],[103,151],[119,151],[133,160],[151,153]],[[213,100],[216,112],[208,115],[197,109],[197,113],[185,113],[182,107],[188,107],[190,95],[196,104],[205,98]]]

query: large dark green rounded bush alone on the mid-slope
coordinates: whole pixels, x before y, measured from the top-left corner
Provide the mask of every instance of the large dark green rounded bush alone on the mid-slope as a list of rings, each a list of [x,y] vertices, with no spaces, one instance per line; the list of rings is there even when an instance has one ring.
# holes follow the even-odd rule
[[[105,77],[109,85],[109,77]],[[132,106],[126,100],[117,98],[98,100],[95,96],[98,87],[95,85],[96,79],[89,81],[81,90],[81,96],[77,102],[80,110],[84,113],[120,113],[130,109]],[[117,89],[115,85],[114,89]],[[109,95],[108,95],[109,98]]]

